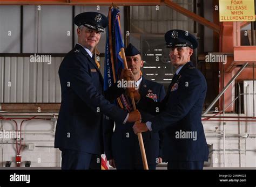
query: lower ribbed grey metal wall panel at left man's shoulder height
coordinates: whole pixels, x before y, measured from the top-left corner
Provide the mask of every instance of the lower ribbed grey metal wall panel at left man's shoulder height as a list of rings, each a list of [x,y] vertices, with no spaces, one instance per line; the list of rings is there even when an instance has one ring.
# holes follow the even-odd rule
[[[1,103],[60,103],[58,68],[63,57],[51,64],[30,62],[29,57],[1,57]]]

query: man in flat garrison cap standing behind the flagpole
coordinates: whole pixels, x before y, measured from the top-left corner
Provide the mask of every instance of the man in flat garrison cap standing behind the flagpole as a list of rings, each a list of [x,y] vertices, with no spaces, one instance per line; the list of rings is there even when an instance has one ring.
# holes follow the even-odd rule
[[[145,96],[153,102],[161,101],[165,96],[164,86],[146,80],[140,74],[143,67],[142,56],[138,49],[132,44],[125,49],[127,66],[132,70],[134,81],[136,81],[140,95]],[[141,112],[142,121],[145,123],[153,116]],[[122,123],[116,121],[113,132],[114,121],[104,120],[103,137],[107,160],[112,167],[117,169],[143,169],[142,156],[140,154],[138,136],[133,133],[134,123]],[[156,164],[161,163],[161,147],[163,134],[161,132],[142,133],[147,163],[149,169],[156,169]]]

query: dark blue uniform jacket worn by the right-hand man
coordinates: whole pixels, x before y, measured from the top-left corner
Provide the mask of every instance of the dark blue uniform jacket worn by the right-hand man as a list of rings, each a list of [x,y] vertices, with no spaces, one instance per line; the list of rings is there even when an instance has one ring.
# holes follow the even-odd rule
[[[187,62],[169,85],[164,100],[154,103],[141,97],[139,109],[159,114],[150,119],[152,131],[164,130],[163,159],[165,161],[207,161],[208,148],[201,123],[201,113],[207,91],[205,77]]]

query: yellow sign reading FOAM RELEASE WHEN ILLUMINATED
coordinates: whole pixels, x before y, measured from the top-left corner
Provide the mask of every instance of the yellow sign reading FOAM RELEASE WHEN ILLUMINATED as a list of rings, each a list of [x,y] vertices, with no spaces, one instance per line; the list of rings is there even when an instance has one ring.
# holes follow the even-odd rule
[[[254,0],[219,0],[220,21],[254,21]]]

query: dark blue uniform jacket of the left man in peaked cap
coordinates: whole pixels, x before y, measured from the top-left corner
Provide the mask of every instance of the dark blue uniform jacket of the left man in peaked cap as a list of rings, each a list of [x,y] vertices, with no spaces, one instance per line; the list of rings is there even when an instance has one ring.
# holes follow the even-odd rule
[[[127,112],[113,105],[123,88],[103,91],[103,77],[85,49],[76,45],[59,67],[62,103],[55,134],[55,148],[91,154],[103,153],[103,113],[123,123]],[[108,99],[108,100],[107,100]]]

